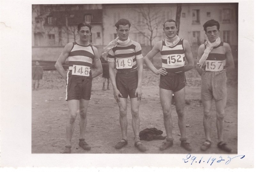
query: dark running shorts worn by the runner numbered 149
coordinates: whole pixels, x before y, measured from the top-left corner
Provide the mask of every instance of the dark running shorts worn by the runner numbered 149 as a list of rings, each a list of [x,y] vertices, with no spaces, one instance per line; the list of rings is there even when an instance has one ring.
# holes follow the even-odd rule
[[[135,91],[138,87],[138,71],[128,74],[116,73],[116,87],[120,91],[123,97],[120,98],[136,98]]]

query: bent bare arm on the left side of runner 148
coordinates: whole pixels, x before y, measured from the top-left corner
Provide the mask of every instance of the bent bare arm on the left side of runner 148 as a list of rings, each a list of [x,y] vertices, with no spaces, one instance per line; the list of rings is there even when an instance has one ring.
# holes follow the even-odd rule
[[[55,63],[55,68],[57,69],[57,71],[60,73],[60,75],[62,76],[63,79],[67,80],[67,74],[62,66],[62,64],[66,61],[66,59],[69,56],[69,53],[71,51],[73,47],[73,43],[68,43],[65,47],[64,50],[62,51],[62,53],[60,54],[59,59],[57,60],[57,62]]]

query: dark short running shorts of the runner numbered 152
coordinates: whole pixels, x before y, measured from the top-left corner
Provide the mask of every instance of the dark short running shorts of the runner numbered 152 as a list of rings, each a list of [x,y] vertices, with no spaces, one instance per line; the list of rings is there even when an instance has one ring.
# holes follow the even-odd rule
[[[186,86],[185,74],[172,74],[160,76],[159,87],[165,90],[172,90],[173,92],[179,91]]]

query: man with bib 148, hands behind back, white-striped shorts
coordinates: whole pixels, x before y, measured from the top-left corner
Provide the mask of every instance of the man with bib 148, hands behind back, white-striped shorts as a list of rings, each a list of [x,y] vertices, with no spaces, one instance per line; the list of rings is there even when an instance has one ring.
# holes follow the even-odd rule
[[[92,78],[102,73],[102,66],[97,48],[89,43],[92,26],[88,23],[80,23],[77,27],[79,40],[68,43],[60,54],[55,67],[60,75],[67,81],[66,100],[68,101],[68,121],[66,126],[67,142],[63,153],[71,152],[71,138],[74,132],[74,123],[77,112],[80,112],[80,137],[79,146],[84,150],[90,150],[84,141],[87,123],[86,111],[91,99]],[[66,74],[62,64],[68,58],[68,73]],[[92,60],[96,70],[92,72]],[[78,109],[79,104],[79,109]]]

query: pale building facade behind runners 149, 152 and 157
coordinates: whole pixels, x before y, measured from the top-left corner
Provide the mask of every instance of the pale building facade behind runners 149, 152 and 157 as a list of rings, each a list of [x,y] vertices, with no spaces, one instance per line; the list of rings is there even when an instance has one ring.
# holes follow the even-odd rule
[[[200,45],[207,39],[203,24],[207,20],[220,22],[220,38],[231,45],[238,44],[238,3],[183,3],[179,36],[191,45]],[[164,21],[176,19],[177,4],[102,4],[103,44],[116,37],[115,23],[122,18],[130,20],[130,38],[141,45],[150,46],[150,35],[163,40]]]

